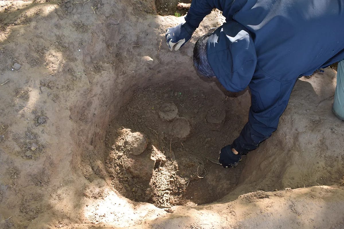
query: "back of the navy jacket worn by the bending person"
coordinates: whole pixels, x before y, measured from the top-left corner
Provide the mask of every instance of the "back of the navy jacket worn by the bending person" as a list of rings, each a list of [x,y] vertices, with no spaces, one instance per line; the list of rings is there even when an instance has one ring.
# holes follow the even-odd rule
[[[344,0],[240,3],[233,19],[251,33],[257,65],[270,77],[311,75],[344,58]]]

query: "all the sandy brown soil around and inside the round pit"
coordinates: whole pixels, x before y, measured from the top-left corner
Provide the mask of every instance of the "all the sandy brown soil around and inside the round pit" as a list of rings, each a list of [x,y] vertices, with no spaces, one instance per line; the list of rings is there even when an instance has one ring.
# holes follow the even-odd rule
[[[336,72],[299,80],[276,133],[223,169],[207,157],[249,91],[192,67],[218,11],[167,49],[173,4],[0,1],[0,228],[344,228]]]

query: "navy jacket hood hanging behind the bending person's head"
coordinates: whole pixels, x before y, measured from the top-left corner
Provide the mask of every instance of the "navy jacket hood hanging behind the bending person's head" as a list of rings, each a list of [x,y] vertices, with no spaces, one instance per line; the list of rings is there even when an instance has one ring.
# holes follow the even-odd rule
[[[236,21],[218,27],[207,41],[207,59],[216,78],[228,90],[244,90],[256,69],[257,55],[250,33]]]

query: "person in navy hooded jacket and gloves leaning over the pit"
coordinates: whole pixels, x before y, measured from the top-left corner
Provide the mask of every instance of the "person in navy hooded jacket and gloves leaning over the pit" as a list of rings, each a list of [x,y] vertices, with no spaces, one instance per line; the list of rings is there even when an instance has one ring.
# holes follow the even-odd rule
[[[170,50],[190,40],[213,8],[226,22],[201,37],[194,66],[231,92],[251,92],[248,122],[219,163],[236,167],[277,129],[296,80],[338,65],[334,113],[344,119],[344,0],[193,0],[185,23],[166,30]]]

